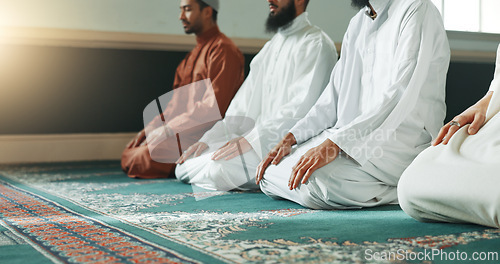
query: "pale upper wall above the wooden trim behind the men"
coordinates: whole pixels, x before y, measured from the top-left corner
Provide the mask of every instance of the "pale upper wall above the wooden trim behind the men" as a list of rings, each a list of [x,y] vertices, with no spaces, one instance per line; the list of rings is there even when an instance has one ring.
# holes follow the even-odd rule
[[[230,37],[267,39],[266,0],[220,0],[219,25]],[[311,21],[341,42],[356,13],[350,0],[313,0]],[[180,34],[179,0],[0,0],[0,27]],[[1,33],[1,32],[0,32]],[[496,51],[500,35],[452,34],[452,49]]]

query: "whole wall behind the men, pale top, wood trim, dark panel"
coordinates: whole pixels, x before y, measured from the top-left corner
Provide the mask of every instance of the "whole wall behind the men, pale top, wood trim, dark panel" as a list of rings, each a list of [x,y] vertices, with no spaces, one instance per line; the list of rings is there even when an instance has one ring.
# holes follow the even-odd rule
[[[221,29],[257,47],[245,52],[248,64],[263,43],[254,40],[270,37],[263,32],[266,1],[221,2]],[[311,20],[337,44],[355,13],[349,3],[311,1]],[[0,0],[0,163],[118,159],[142,128],[144,106],[170,90],[174,69],[190,49],[177,16],[177,0]],[[38,43],[33,40],[46,32],[57,38],[59,31],[28,30],[30,41],[5,42],[5,32],[20,27],[71,34],[66,42]],[[128,33],[132,44],[122,46]],[[86,34],[91,41],[84,36],[82,44],[79,35]],[[449,34],[452,48],[486,55],[484,62],[469,54],[473,62],[450,65],[447,120],[487,90],[500,42],[497,35]],[[169,36],[166,42],[182,39],[180,48],[165,46],[163,40],[147,49],[134,42],[148,38],[154,44],[162,36]]]

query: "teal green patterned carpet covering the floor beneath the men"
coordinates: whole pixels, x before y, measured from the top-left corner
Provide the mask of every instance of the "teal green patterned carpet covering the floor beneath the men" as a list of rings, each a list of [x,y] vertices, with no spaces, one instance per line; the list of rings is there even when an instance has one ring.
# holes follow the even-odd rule
[[[118,162],[0,166],[0,263],[499,263],[499,253],[498,229],[419,223],[398,206],[309,210],[129,179]]]

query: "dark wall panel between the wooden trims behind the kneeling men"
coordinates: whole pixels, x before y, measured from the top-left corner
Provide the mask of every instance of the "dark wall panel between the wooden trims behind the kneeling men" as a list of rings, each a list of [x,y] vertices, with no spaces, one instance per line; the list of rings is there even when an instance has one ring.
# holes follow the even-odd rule
[[[142,129],[143,108],[171,90],[185,52],[0,45],[0,134]],[[246,54],[246,73],[253,54]],[[448,117],[488,89],[493,64],[452,63]]]

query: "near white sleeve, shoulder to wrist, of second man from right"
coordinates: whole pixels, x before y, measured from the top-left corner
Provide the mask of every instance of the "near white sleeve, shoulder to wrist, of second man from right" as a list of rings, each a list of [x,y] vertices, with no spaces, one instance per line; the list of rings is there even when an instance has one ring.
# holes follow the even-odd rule
[[[405,18],[407,23],[402,25],[395,54],[398,61],[391,66],[398,69],[393,76],[395,81],[390,87],[381,87],[386,96],[379,108],[358,116],[338,130],[329,131],[329,139],[360,165],[373,157],[373,150],[393,138],[396,129],[417,107],[423,90],[442,88],[444,95],[450,50],[442,21],[432,19],[432,16],[438,17],[437,11],[430,10],[428,5],[419,5]],[[442,125],[442,120],[436,122],[439,114],[427,117],[431,121],[425,124],[433,137]]]

